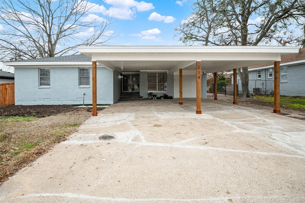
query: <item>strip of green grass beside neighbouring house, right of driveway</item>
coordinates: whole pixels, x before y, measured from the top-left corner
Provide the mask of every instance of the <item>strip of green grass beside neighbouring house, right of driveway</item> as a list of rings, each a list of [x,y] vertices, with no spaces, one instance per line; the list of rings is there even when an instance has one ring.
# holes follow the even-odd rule
[[[260,96],[257,95],[256,97],[260,98],[262,102],[265,103],[273,103],[274,98],[273,96]],[[289,106],[295,109],[298,108],[305,108],[305,99],[296,99],[296,98],[289,98],[285,96],[280,96],[280,103]]]

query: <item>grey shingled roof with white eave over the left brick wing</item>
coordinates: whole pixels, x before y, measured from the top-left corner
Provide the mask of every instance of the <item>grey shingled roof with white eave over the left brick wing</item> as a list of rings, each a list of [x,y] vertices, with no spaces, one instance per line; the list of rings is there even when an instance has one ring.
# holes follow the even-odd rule
[[[17,61],[9,61],[9,62],[91,62],[91,58],[83,55],[69,55],[69,56],[57,56],[50,58],[33,58],[26,60],[17,60]]]

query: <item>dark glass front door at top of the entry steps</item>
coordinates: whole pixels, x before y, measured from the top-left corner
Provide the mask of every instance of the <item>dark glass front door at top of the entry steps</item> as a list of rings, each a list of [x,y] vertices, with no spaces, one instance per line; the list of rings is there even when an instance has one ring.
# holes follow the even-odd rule
[[[123,74],[122,92],[139,92],[140,74]]]

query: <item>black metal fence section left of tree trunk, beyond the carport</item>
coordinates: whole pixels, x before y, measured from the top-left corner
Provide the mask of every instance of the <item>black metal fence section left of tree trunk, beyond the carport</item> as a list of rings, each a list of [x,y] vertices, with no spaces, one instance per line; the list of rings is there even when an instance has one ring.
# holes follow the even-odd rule
[[[207,96],[214,96],[214,89],[214,84],[206,84]],[[237,84],[237,89],[239,89],[239,84]],[[233,94],[233,84],[217,84],[217,96],[233,96]],[[237,92],[237,96],[239,96],[239,91]]]

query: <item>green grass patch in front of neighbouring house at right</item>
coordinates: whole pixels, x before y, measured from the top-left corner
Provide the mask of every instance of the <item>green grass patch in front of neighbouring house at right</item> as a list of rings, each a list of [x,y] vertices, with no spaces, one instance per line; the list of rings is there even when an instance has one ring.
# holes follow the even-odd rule
[[[273,96],[261,96],[256,95],[260,102],[263,103],[272,103],[274,102]],[[280,96],[280,104],[282,108],[294,109],[294,110],[305,110],[305,99],[304,98],[295,98],[289,96]]]

